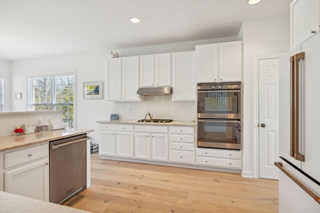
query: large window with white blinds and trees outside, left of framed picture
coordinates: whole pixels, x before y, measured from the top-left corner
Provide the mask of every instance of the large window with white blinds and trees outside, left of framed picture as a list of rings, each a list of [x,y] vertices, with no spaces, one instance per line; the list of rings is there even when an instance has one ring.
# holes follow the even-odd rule
[[[74,128],[74,75],[27,76],[28,111],[63,110],[62,122]]]

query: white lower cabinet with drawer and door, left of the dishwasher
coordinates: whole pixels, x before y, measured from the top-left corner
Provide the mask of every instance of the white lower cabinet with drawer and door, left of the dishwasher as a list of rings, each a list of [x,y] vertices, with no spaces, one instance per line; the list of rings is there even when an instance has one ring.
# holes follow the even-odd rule
[[[48,142],[0,153],[0,190],[49,201]]]

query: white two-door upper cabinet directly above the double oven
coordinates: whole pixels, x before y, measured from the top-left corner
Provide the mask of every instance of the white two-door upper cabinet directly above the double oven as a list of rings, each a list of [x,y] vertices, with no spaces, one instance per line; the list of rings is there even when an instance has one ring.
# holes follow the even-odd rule
[[[241,81],[242,41],[195,46],[196,82]]]

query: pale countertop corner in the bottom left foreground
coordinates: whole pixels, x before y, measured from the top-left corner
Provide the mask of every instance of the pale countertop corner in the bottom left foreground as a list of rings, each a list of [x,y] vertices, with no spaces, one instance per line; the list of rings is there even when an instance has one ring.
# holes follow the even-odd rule
[[[35,200],[19,195],[0,191],[1,213],[89,213],[62,205]]]

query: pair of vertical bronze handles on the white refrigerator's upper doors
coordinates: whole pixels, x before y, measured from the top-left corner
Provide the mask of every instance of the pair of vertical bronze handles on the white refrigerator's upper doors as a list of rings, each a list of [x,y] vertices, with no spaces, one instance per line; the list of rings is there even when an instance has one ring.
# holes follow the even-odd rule
[[[304,162],[304,155],[299,153],[299,60],[304,58],[304,52],[293,56],[293,157],[295,160]]]

